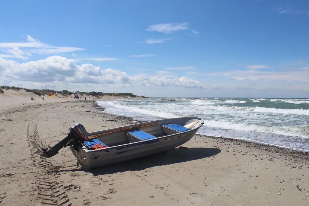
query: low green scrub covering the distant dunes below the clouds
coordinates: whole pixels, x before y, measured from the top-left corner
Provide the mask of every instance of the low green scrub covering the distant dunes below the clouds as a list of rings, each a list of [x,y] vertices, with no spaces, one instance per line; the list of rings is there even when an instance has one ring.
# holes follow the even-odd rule
[[[0,89],[0,93],[4,93],[4,91],[2,89],[5,89],[5,90],[23,90],[23,88],[20,88],[20,87],[15,87],[15,86],[0,86],[1,89]],[[38,95],[38,96],[44,96],[44,95],[50,95],[54,92],[54,90],[39,90],[39,89],[27,89],[25,88],[24,89],[26,92],[33,92],[34,94]],[[94,96],[94,97],[103,97],[104,95],[110,95],[110,96],[115,96],[115,97],[120,97],[120,96],[125,96],[125,97],[139,97],[137,95],[133,95],[132,93],[118,93],[118,92],[114,92],[114,93],[103,93],[103,92],[95,92],[95,91],[92,91],[92,92],[80,92],[80,91],[76,91],[75,93],[74,92],[70,92],[68,90],[62,90],[62,91],[56,91],[57,92],[57,95],[56,96],[64,96],[64,95],[73,95],[75,93],[78,93],[79,95],[85,95],[85,96]],[[144,96],[141,96],[141,97],[144,97]],[[144,97],[146,98],[146,97]]]

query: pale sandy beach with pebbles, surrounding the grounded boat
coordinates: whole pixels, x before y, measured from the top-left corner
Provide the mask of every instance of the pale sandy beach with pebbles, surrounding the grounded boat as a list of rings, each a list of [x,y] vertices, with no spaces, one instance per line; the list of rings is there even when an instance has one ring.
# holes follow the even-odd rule
[[[93,170],[69,148],[41,158],[76,123],[136,123],[92,100],[0,94],[0,205],[309,205],[309,154],[254,142],[197,134],[167,154]]]

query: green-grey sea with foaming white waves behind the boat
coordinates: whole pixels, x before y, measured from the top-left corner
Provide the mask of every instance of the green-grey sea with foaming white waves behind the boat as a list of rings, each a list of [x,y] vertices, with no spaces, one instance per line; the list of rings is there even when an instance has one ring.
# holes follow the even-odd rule
[[[160,98],[97,101],[105,112],[158,120],[196,116],[197,133],[309,151],[308,98]]]

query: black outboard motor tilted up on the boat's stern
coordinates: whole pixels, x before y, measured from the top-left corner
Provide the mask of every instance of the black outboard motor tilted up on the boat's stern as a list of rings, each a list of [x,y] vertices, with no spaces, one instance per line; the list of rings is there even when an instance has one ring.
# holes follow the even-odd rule
[[[43,153],[42,157],[50,158],[54,155],[58,154],[58,151],[62,147],[72,146],[76,147],[78,145],[83,145],[83,142],[88,139],[87,131],[82,124],[75,124],[70,127],[70,133],[63,140],[58,142],[55,146],[47,146],[46,148],[42,148]]]

